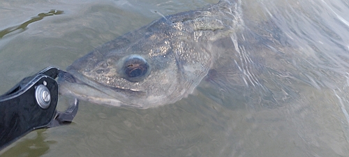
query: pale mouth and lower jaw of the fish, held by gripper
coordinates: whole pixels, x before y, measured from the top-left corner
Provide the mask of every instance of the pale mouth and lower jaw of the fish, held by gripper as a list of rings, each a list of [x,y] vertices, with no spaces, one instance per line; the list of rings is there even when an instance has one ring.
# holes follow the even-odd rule
[[[107,87],[90,80],[76,70],[61,71],[57,82],[59,84],[59,94],[62,95],[70,95],[80,100],[87,100],[102,105],[142,108],[142,105],[133,104],[129,101],[129,97],[142,96],[145,92],[119,87]]]

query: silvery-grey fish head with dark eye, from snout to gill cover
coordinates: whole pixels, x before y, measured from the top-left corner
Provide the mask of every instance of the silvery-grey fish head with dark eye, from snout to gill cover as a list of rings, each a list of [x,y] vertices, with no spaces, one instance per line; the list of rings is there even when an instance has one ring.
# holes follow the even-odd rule
[[[126,33],[77,59],[60,75],[60,92],[138,108],[174,103],[191,94],[207,75],[211,54],[205,43],[166,21]]]

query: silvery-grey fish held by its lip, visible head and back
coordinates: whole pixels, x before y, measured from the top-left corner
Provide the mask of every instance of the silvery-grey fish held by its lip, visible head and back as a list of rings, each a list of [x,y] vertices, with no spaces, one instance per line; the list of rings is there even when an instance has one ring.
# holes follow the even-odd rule
[[[163,17],[77,59],[61,73],[60,92],[143,109],[175,103],[216,63],[215,41],[239,31],[242,23],[235,1]]]

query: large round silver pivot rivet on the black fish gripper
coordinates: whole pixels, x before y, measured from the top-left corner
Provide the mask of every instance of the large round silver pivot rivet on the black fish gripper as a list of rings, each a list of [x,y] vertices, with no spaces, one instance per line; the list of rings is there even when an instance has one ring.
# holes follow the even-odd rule
[[[35,98],[38,105],[45,109],[50,106],[51,94],[50,91],[43,84],[38,85],[35,89]]]

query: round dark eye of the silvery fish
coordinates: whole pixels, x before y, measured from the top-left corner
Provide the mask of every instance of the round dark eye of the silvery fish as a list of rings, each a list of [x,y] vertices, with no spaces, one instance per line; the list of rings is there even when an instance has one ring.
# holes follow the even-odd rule
[[[149,65],[145,59],[138,56],[131,56],[124,62],[124,74],[126,79],[138,82],[147,75]]]

